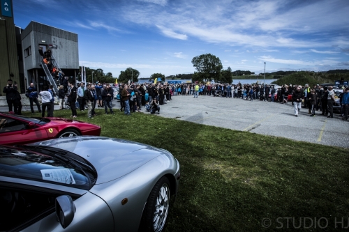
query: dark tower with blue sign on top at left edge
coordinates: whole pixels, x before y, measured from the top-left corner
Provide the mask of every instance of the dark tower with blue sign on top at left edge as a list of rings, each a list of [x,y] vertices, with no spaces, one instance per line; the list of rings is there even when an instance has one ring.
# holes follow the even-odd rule
[[[12,1],[1,0],[0,11],[0,89],[7,85],[7,80],[13,79],[20,90],[24,84],[20,79],[16,42],[16,26],[13,19]]]

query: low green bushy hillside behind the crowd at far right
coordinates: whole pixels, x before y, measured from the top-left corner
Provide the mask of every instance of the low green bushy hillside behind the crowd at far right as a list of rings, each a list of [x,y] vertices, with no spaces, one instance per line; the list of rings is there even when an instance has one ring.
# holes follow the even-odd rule
[[[334,70],[331,70],[334,71]],[[309,72],[309,71],[300,71],[294,72],[290,75],[285,75],[284,77],[279,78],[273,84],[283,85],[283,84],[309,84],[313,86],[315,84],[323,84],[334,82],[340,80],[343,77],[344,80],[349,80],[349,72],[342,73],[332,73],[332,72]]]

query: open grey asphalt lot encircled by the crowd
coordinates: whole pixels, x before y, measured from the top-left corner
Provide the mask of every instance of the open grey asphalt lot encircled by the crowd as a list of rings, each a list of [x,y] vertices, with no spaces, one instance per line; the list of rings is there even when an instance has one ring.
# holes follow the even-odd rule
[[[179,95],[161,106],[159,116],[349,148],[349,121],[342,121],[339,114],[334,114],[334,118],[320,116],[320,111],[315,114],[310,117],[308,109],[302,109],[295,117],[292,103]]]

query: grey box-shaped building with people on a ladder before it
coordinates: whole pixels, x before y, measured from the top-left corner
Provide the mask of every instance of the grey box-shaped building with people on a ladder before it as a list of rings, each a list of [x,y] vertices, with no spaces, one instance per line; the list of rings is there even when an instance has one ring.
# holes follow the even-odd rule
[[[51,81],[41,64],[40,47],[43,52],[51,49],[52,58],[66,76],[71,79],[77,77],[79,51],[76,33],[32,21],[22,31],[21,40],[26,86],[33,82],[40,89]]]

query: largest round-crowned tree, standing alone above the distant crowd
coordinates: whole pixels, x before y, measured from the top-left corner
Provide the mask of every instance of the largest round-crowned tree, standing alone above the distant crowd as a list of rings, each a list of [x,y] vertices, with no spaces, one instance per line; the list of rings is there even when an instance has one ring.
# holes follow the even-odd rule
[[[221,60],[212,54],[202,54],[200,56],[195,56],[193,60],[194,68],[198,72],[194,72],[193,82],[211,82],[212,79],[221,79],[221,70],[223,65]]]

